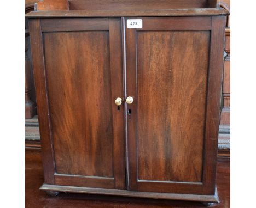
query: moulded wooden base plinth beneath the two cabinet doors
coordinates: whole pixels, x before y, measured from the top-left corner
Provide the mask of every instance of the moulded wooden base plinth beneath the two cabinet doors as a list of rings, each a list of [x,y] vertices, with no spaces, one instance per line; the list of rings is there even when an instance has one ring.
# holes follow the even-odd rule
[[[117,196],[123,196],[123,197],[138,197],[138,198],[170,199],[170,200],[184,200],[184,201],[201,201],[201,202],[205,202],[205,203],[219,203],[217,188],[216,188],[214,195],[137,192],[137,191],[126,191],[126,190],[117,190],[117,189],[87,188],[87,187],[77,187],[77,186],[59,186],[59,185],[50,185],[50,184],[45,184],[45,183],[40,187],[40,190],[53,191],[53,192],[117,195]]]

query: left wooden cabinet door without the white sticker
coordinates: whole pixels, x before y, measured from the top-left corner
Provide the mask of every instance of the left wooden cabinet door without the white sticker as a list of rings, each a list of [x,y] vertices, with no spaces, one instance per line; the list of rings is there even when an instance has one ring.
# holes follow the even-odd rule
[[[31,19],[45,183],[125,189],[120,19]]]

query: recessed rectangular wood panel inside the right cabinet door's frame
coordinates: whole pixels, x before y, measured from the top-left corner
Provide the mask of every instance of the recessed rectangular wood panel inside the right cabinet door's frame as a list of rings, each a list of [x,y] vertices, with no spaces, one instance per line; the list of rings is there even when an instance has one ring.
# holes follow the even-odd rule
[[[137,32],[138,179],[202,181],[210,31]]]

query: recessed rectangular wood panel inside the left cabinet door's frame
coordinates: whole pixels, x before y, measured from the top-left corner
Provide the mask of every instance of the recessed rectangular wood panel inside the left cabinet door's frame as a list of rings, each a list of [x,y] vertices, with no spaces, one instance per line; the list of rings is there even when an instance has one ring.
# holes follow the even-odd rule
[[[113,177],[109,32],[44,33],[56,173]]]

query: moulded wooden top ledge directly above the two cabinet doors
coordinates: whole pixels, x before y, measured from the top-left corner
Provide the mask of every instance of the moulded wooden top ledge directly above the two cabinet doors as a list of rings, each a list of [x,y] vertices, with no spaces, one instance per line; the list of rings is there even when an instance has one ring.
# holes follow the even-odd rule
[[[223,8],[147,9],[147,10],[90,10],[90,11],[31,11],[28,18],[53,17],[148,17],[148,16],[219,16],[228,15]]]

